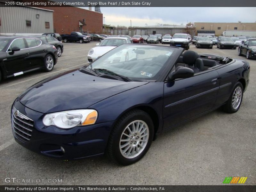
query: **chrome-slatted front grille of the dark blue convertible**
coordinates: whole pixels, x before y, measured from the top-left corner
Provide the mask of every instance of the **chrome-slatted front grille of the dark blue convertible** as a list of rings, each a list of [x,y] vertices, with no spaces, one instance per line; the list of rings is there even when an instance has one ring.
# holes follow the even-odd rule
[[[15,107],[12,108],[12,131],[16,138],[28,143],[33,127],[34,121],[32,119],[20,113]]]

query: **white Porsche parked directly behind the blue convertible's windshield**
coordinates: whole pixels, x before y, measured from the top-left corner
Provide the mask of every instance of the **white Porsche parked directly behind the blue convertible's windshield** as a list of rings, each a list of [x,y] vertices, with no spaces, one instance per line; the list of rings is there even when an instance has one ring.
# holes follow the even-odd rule
[[[132,43],[132,40],[125,37],[108,37],[96,44],[97,47],[92,48],[88,52],[87,59],[89,62],[92,62],[117,46],[127,43]]]

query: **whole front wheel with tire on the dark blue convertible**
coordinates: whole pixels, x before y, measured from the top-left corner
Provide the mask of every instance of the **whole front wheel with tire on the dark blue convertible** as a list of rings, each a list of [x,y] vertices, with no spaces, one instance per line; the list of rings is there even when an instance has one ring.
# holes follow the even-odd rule
[[[137,127],[138,124],[139,127]],[[136,128],[139,131],[136,131]],[[146,133],[147,135],[145,135]],[[153,134],[154,124],[146,112],[139,109],[127,112],[117,120],[110,133],[107,147],[110,160],[122,165],[130,165],[139,161],[147,153],[153,140]]]

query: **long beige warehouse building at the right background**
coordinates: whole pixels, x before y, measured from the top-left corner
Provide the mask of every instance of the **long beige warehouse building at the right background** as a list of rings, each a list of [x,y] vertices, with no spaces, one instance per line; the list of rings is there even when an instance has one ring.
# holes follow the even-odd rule
[[[201,23],[195,22],[196,30],[215,31],[220,36],[225,30],[251,30],[256,31],[256,23]]]

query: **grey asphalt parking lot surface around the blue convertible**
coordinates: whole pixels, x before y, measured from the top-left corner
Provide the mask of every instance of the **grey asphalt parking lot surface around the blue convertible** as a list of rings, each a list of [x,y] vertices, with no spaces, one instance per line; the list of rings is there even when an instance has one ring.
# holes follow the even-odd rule
[[[10,119],[15,98],[38,81],[86,65],[87,53],[96,43],[64,43],[64,52],[51,72],[37,71],[1,81],[1,185],[221,185],[229,176],[248,177],[245,184],[256,184],[256,60],[248,60],[250,84],[237,113],[217,109],[165,131],[158,135],[148,153],[130,166],[116,165],[105,156],[63,161],[36,154],[16,143]],[[196,49],[190,44],[189,50],[246,60],[237,55],[237,49],[220,50],[216,45],[213,49]],[[62,182],[6,183],[6,177]]]

